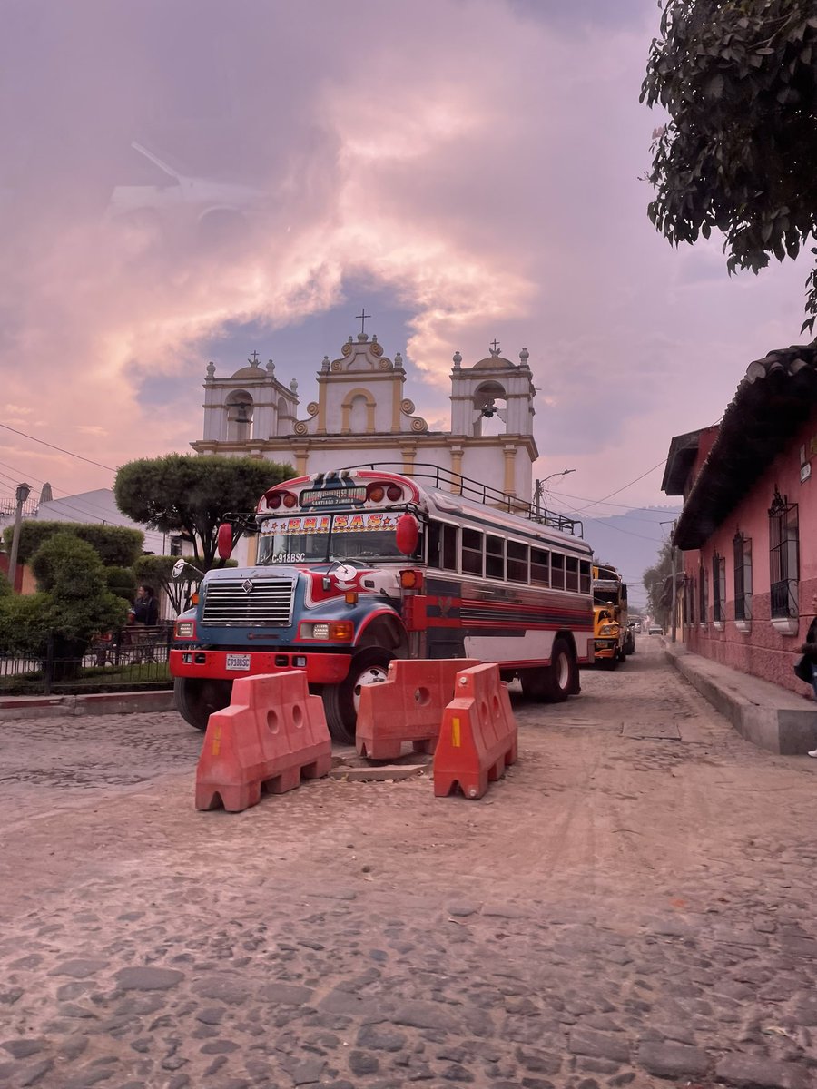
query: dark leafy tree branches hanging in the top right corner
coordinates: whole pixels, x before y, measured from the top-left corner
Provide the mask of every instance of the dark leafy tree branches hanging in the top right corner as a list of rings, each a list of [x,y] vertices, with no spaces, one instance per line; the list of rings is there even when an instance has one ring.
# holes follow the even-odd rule
[[[814,0],[666,0],[641,100],[670,115],[647,176],[649,218],[671,243],[721,231],[731,274],[794,258],[815,240]],[[817,267],[805,310],[810,331]]]

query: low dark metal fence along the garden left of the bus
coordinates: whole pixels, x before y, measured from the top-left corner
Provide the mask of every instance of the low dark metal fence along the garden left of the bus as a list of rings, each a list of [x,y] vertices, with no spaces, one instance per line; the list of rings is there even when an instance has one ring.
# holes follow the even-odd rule
[[[50,636],[42,658],[0,654],[0,696],[170,688],[170,625],[131,625],[90,643]]]

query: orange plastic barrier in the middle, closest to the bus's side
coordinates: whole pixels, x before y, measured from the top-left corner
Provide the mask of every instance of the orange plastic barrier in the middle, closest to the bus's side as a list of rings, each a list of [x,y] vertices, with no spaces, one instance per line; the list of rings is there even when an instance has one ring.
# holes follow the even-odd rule
[[[415,752],[434,752],[446,705],[455,695],[456,674],[478,664],[468,658],[395,658],[382,684],[361,689],[358,754],[369,760],[393,760],[405,742]]]

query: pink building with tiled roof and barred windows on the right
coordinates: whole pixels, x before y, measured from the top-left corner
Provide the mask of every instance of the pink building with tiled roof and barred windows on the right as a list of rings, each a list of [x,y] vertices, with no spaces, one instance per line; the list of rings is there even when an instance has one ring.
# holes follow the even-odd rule
[[[691,651],[800,694],[817,590],[817,342],[749,365],[719,425],[676,436],[682,634]],[[817,464],[815,465],[817,475]]]

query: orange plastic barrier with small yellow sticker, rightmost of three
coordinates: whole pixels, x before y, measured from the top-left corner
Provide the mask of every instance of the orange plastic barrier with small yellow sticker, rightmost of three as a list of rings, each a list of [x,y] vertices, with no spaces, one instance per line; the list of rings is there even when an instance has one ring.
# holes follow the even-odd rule
[[[446,797],[459,785],[466,798],[481,798],[488,783],[515,763],[516,721],[498,665],[475,665],[456,676],[434,756],[434,793]]]

